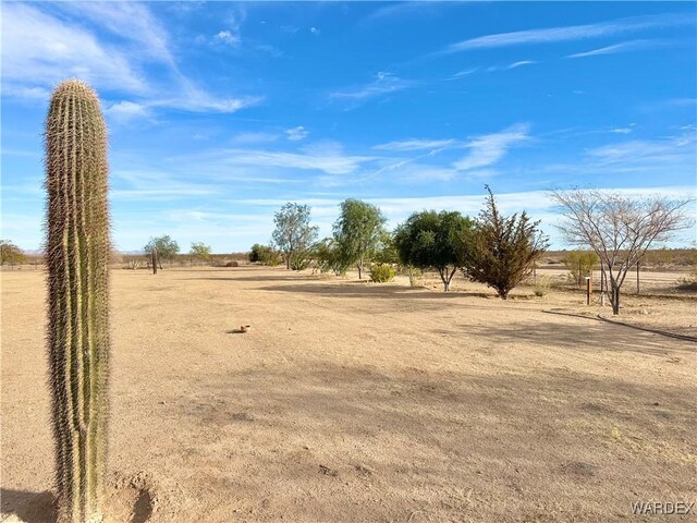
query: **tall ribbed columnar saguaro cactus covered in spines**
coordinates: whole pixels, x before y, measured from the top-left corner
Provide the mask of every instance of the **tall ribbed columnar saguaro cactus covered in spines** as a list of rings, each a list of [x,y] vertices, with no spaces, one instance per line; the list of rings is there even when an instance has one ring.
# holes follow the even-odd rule
[[[59,521],[102,519],[109,364],[107,127],[70,80],[46,122],[48,358]]]

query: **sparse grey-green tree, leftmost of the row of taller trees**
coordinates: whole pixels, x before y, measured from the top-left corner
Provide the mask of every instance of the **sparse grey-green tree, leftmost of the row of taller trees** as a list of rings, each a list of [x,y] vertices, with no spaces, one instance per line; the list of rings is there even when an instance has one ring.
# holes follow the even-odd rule
[[[309,223],[309,206],[288,203],[273,215],[276,229],[273,242],[285,257],[285,268],[294,265],[294,258],[307,257],[317,240],[319,228]]]

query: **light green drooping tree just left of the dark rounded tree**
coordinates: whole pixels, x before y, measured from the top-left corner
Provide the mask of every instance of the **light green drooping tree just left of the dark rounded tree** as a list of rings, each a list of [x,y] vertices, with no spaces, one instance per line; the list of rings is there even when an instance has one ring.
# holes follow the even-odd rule
[[[359,199],[346,199],[340,207],[341,212],[334,222],[334,239],[341,244],[344,264],[355,264],[358,279],[362,279],[366,260],[380,245],[387,219],[378,207]]]

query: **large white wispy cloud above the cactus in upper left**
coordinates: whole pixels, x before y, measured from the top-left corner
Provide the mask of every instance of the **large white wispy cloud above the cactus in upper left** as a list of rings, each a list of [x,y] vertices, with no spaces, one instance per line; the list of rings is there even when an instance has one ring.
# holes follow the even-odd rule
[[[3,4],[3,89],[15,98],[39,99],[76,76],[121,98],[114,121],[150,117],[152,108],[234,112],[259,96],[218,96],[184,75],[163,25],[138,2]],[[150,68],[151,64],[157,68]],[[151,69],[169,73],[156,80]],[[146,74],[146,71],[148,73]]]

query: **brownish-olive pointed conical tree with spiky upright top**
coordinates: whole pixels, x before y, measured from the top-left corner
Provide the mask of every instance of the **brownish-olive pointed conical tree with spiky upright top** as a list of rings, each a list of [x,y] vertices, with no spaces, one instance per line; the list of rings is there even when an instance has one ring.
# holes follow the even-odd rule
[[[489,196],[477,218],[463,271],[506,300],[509,292],[530,276],[549,242],[538,229],[540,222],[531,221],[527,212],[502,216],[491,188],[485,186]]]

